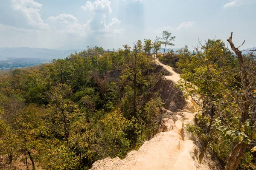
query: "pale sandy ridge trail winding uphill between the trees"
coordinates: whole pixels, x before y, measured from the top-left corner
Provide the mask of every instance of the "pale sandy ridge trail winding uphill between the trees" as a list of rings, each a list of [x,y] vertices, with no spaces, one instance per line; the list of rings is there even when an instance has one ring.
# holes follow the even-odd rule
[[[159,64],[172,74],[163,78],[177,83],[180,74],[168,65]],[[172,115],[173,119],[163,118],[165,132],[144,142],[138,151],[131,151],[125,159],[108,157],[96,161],[91,170],[218,170],[216,162],[211,159],[203,159],[202,164],[199,163],[200,149],[184,129],[185,124],[194,123],[194,112],[195,106],[186,99],[186,107]]]

